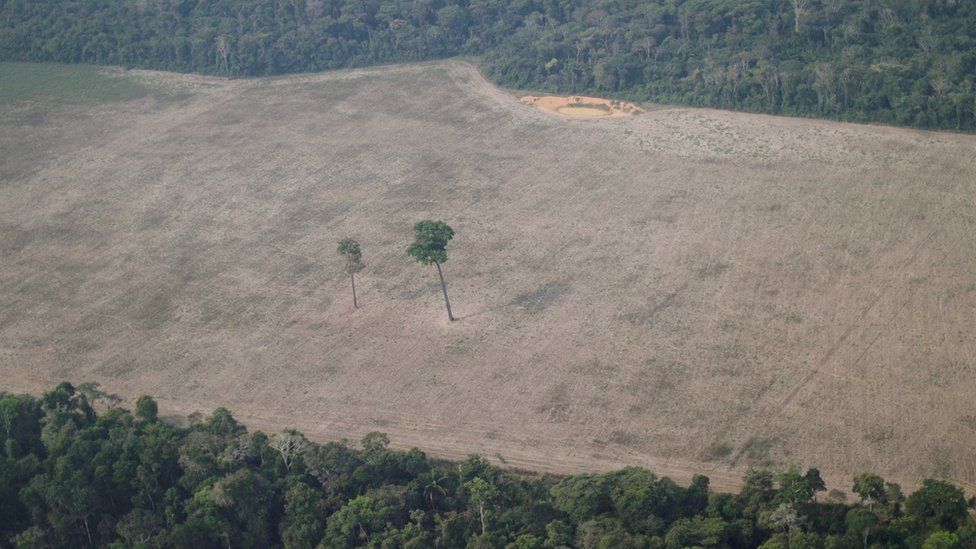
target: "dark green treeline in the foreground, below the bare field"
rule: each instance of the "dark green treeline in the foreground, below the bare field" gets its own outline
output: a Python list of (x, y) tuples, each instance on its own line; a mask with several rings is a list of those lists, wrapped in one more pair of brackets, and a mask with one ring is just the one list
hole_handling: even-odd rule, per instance
[(94, 384), (0, 393), (0, 546), (976, 546), (972, 502), (937, 480), (906, 497), (864, 474), (845, 503), (824, 499), (816, 469), (751, 470), (724, 494), (637, 467), (554, 478), (440, 462), (380, 433), (356, 448), (248, 433), (222, 408), (183, 429), (149, 397), (134, 414), (117, 403)]

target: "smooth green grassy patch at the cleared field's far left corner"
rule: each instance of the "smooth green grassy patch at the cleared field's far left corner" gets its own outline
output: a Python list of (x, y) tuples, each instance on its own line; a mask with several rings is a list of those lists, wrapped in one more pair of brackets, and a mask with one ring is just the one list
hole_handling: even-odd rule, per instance
[(145, 97), (150, 89), (112, 69), (54, 63), (0, 63), (0, 103), (92, 104)]

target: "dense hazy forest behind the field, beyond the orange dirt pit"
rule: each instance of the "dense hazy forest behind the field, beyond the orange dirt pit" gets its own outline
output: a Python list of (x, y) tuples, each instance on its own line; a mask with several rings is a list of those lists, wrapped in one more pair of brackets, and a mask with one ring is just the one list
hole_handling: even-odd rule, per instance
[(976, 130), (970, 0), (0, 0), (0, 59), (231, 76), (450, 56), (515, 88)]

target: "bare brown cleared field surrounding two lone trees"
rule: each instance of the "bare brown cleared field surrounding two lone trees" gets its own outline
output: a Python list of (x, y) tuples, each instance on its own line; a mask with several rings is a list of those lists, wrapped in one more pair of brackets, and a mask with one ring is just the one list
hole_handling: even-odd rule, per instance
[[(976, 484), (974, 136), (572, 120), (454, 61), (0, 70), (0, 389), (553, 472)], [(405, 254), (425, 218), (454, 323)]]

